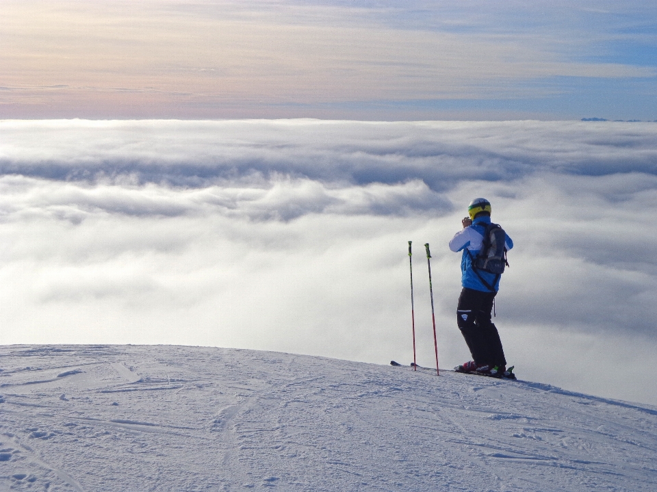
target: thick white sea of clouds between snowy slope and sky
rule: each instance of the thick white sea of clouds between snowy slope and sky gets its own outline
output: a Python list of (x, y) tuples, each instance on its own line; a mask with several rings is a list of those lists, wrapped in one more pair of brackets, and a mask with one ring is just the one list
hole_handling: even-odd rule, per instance
[[(515, 242), (495, 322), (523, 378), (657, 403), (657, 124), (0, 122), (0, 344), (469, 358), (449, 239)], [(575, 376), (574, 376), (575, 374)]]

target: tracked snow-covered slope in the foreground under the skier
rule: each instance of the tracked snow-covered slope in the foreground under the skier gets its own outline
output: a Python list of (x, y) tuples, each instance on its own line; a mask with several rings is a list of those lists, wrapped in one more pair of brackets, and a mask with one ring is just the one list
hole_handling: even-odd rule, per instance
[(0, 491), (657, 490), (656, 408), (523, 380), (188, 346), (0, 369)]

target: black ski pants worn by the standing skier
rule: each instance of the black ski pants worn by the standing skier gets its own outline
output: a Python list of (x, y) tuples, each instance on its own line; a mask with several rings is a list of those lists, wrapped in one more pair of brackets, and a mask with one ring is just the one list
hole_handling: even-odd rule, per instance
[(456, 322), (476, 364), (506, 366), (498, 328), (491, 321), (497, 292), (481, 292), (463, 287), (456, 307)]

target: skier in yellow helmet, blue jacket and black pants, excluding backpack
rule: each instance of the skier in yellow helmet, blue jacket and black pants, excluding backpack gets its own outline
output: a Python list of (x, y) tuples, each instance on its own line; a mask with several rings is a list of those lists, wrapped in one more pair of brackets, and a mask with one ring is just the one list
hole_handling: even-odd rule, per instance
[[(498, 329), (491, 322), (493, 300), (498, 293), (500, 274), (474, 268), (472, 264), (482, 249), (487, 225), (491, 224), (491, 203), (485, 198), (475, 198), (467, 211), (469, 217), (461, 221), (463, 229), (450, 241), (450, 250), (454, 253), (463, 250), (463, 290), (456, 307), (456, 322), (473, 360), (456, 367), (456, 370), (502, 376), (506, 371), (504, 349)], [(513, 241), (508, 235), (504, 245), (507, 250), (513, 248)]]

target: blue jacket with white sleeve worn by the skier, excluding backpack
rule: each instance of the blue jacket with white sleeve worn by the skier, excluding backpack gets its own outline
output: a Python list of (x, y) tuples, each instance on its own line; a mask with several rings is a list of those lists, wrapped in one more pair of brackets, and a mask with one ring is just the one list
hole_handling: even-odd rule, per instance
[[(470, 257), (470, 255), (472, 255), (472, 258), (474, 258), (479, 253), (484, 239), (485, 227), (490, 223), (490, 217), (478, 217), (472, 222), (471, 226), (467, 226), (457, 232), (450, 241), (450, 250), (454, 251), (454, 253), (463, 250), (463, 257), (461, 257), (461, 271), (463, 272), (461, 276), (461, 285), (467, 289), (491, 292), (491, 290), (482, 283), (474, 270), (472, 270), (472, 259)], [(511, 237), (508, 237), (508, 234), (506, 235), (505, 244), (507, 250), (513, 248), (513, 241), (511, 241)], [(495, 292), (498, 291), (500, 288), (500, 275), (484, 272), (482, 270), (477, 270), (477, 273), (482, 276), (482, 279), (487, 281), (493, 289), (495, 289)]]

